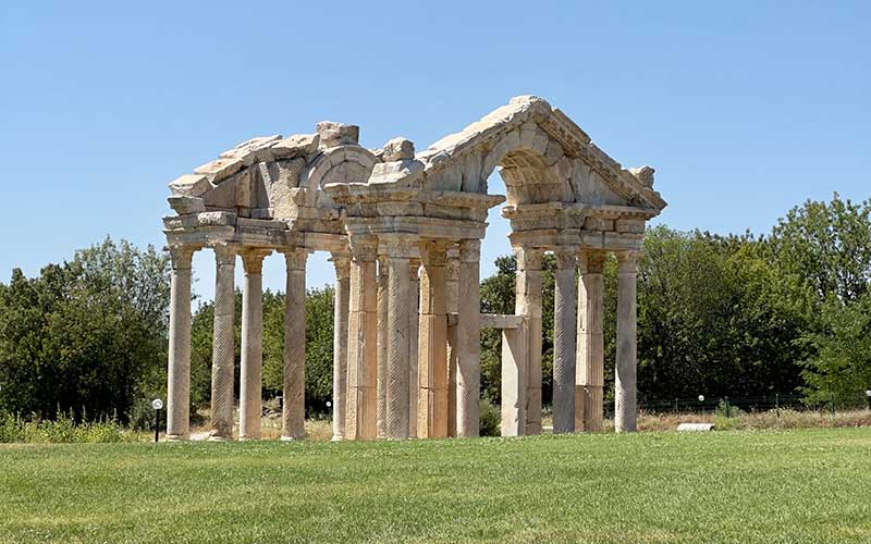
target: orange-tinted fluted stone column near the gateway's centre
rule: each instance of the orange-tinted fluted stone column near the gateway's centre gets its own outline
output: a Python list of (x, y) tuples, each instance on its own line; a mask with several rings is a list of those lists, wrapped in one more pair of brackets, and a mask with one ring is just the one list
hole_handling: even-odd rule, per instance
[(418, 344), (417, 436), (447, 436), (446, 245), (420, 247), (420, 342)]

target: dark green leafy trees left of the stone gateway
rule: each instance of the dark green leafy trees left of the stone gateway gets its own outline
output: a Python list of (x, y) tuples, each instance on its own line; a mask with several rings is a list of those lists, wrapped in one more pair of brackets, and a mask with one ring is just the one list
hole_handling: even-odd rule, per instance
[(0, 289), (0, 407), (125, 420), (165, 382), (169, 260), (126, 242), (77, 251)]

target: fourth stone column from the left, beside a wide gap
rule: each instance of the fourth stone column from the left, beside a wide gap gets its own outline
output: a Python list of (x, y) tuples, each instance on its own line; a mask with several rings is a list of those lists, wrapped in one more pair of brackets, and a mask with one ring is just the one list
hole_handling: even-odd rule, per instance
[(281, 440), (306, 435), (306, 260), (308, 249), (284, 250), (287, 288), (284, 294), (284, 409)]

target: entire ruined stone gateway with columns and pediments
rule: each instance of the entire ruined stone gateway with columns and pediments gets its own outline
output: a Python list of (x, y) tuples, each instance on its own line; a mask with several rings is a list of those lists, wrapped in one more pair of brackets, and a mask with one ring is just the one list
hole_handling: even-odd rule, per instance
[[(415, 154), (357, 126), (240, 144), (170, 184), (168, 434), (188, 436), (191, 259), (216, 256), (211, 436), (233, 437), (234, 267), (245, 270), (240, 438), (260, 436), (261, 264), (287, 264), (282, 436), (304, 436), (305, 270), (335, 264), (336, 440), (478, 435), (480, 329), (503, 330), (502, 433), (541, 432), (541, 261), (556, 256), (554, 432), (602, 424), (605, 252), (619, 263), (615, 425), (636, 428), (636, 259), (666, 206), (653, 170), (623, 169), (562, 111), (517, 97)], [(480, 240), (496, 166), (517, 257), (514, 316), (481, 314)], [(576, 270), (580, 279), (576, 285)]]

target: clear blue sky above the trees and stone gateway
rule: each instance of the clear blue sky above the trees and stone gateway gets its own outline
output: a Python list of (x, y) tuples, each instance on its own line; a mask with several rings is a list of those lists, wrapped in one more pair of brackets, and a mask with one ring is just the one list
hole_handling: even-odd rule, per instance
[[(525, 94), (654, 166), (657, 221), (766, 232), (807, 198), (871, 196), (869, 7), (2, 2), (0, 281), (107, 234), (161, 246), (167, 183), (249, 137), (333, 120), (422, 150)], [(506, 233), (491, 214), (483, 274)], [(208, 298), (213, 258), (194, 265)], [(265, 284), (283, 288), (279, 257)]]

